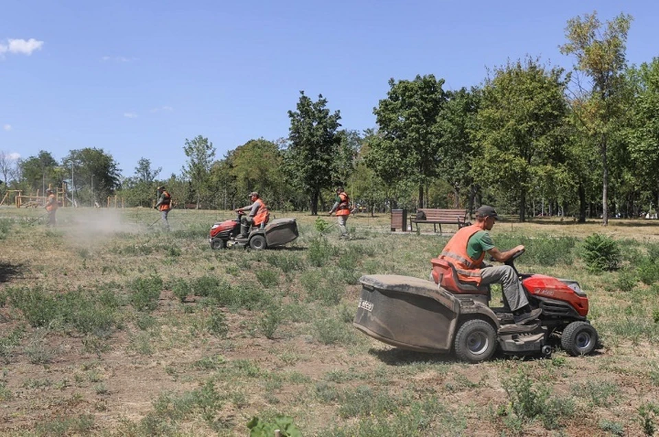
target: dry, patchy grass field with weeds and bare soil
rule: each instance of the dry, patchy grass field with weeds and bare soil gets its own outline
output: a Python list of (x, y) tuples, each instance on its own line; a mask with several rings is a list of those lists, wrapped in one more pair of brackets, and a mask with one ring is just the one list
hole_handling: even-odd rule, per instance
[[(522, 272), (576, 279), (596, 353), (463, 364), (400, 351), (352, 327), (362, 274), (426, 279), (448, 235), (391, 233), (279, 250), (211, 250), (230, 212), (0, 209), (0, 434), (246, 436), (292, 418), (303, 436), (643, 436), (659, 427), (659, 222), (500, 222)], [(334, 217), (321, 217), (334, 222)], [(430, 226), (424, 231), (432, 231)], [(444, 226), (444, 231), (454, 231)], [(621, 268), (591, 273), (583, 241), (612, 237)], [(263, 434), (272, 435), (272, 434)]]

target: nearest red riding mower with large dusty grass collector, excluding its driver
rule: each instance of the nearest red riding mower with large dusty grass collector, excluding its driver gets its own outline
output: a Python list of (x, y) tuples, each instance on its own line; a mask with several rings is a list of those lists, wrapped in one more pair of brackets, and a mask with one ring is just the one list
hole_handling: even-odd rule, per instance
[[(517, 252), (507, 265), (515, 268)], [(432, 281), (398, 275), (360, 278), (362, 292), (354, 326), (400, 349), (449, 352), (465, 362), (482, 362), (503, 353), (551, 355), (560, 343), (570, 355), (586, 355), (597, 346), (588, 322), (588, 296), (577, 281), (542, 274), (516, 274), (529, 304), (542, 308), (532, 324), (515, 324), (505, 297), (503, 307), (489, 307), (489, 287), (458, 279), (452, 263), (431, 260)]]

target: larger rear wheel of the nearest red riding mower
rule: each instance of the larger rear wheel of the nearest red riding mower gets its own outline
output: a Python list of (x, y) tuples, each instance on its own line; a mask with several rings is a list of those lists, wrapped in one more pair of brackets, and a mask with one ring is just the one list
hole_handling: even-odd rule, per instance
[(496, 331), (485, 320), (467, 320), (455, 335), (454, 349), (455, 355), (462, 361), (485, 361), (496, 351)]

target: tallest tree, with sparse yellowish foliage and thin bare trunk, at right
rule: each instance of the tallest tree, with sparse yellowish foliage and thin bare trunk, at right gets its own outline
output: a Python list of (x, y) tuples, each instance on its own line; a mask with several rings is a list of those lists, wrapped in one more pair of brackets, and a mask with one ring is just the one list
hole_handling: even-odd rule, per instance
[(560, 47), (566, 55), (577, 59), (575, 68), (585, 73), (592, 81), (587, 97), (575, 107), (590, 137), (597, 143), (602, 167), (602, 224), (609, 220), (608, 146), (612, 132), (617, 129), (616, 117), (621, 113), (621, 90), (624, 86), (623, 72), (627, 65), (625, 58), (627, 32), (632, 16), (620, 14), (603, 26), (597, 12), (577, 16), (568, 20), (565, 29), (567, 43)]

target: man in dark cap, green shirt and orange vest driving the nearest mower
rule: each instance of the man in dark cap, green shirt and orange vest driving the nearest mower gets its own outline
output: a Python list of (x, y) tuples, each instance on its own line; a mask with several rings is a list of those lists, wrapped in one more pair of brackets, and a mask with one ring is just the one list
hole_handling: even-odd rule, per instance
[(496, 219), (498, 215), (492, 206), (481, 206), (476, 210), (476, 223), (456, 232), (439, 257), (455, 266), (461, 281), (477, 286), (501, 283), (505, 299), (513, 311), (513, 320), (516, 324), (527, 324), (537, 319), (542, 309), (531, 309), (515, 270), (510, 265), (483, 265), (485, 252), (494, 261), (503, 263), (524, 250), (524, 246), (520, 245), (501, 252), (494, 246), (488, 231), (492, 230)]

